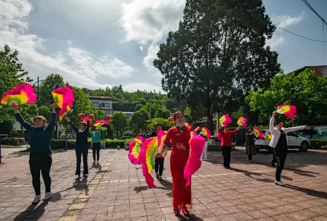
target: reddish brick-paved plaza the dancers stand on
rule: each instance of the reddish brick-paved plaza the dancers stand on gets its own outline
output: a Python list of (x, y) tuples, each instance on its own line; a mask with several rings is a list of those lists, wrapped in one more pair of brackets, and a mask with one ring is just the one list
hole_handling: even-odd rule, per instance
[[(16, 150), (15, 150), (16, 151)], [(244, 148), (232, 152), (224, 169), (220, 152), (208, 152), (192, 177), (193, 210), (176, 217), (172, 208), (169, 158), (164, 180), (149, 189), (141, 165), (132, 165), (125, 150), (101, 150), (89, 176), (75, 179), (75, 151), (54, 151), (52, 199), (34, 199), (28, 153), (5, 153), (0, 164), (0, 220), (327, 220), (327, 151), (290, 151), (282, 181), (274, 184), (271, 154), (260, 152), (247, 162)], [(41, 181), (41, 197), (44, 185)]]

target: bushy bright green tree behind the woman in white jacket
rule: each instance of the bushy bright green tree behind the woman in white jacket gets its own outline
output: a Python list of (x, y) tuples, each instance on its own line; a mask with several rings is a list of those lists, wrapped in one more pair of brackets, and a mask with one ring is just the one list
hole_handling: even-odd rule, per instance
[(268, 125), (277, 105), (295, 105), (295, 120), (283, 117), (287, 125), (327, 124), (327, 77), (316, 77), (309, 68), (295, 75), (283, 71), (271, 79), (267, 90), (252, 90), (246, 97), (251, 111), (259, 115), (259, 124)]

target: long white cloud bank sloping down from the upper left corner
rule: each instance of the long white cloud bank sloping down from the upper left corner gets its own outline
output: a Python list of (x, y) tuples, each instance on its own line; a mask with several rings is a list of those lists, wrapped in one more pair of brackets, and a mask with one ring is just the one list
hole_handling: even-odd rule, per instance
[(45, 39), (25, 34), (28, 30), (26, 17), (31, 10), (32, 5), (25, 0), (0, 1), (0, 45), (8, 44), (12, 50), (18, 50), (19, 61), (30, 71), (31, 77), (53, 72), (73, 85), (106, 87), (112, 85), (99, 82), (99, 77), (110, 82), (110, 79), (130, 78), (135, 71), (118, 58), (97, 57), (83, 48), (73, 47), (71, 40), (67, 41), (68, 48), (64, 52), (54, 55), (40, 53), (39, 49), (45, 49)]

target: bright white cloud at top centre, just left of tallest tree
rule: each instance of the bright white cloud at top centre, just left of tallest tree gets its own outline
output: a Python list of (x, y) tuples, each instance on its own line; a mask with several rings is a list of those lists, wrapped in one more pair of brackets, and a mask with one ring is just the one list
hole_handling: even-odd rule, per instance
[(129, 4), (122, 4), (120, 22), (125, 29), (125, 41), (150, 45), (143, 63), (148, 70), (153, 71), (154, 77), (160, 75), (153, 67), (159, 42), (165, 40), (168, 32), (178, 29), (184, 6), (185, 0), (132, 0)]

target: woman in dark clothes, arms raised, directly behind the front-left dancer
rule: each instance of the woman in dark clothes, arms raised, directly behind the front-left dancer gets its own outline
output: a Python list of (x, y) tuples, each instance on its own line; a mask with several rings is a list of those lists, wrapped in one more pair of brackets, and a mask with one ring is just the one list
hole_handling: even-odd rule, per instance
[(88, 130), (90, 128), (90, 120), (89, 120), (89, 113), (87, 114), (87, 123), (80, 122), (79, 128), (77, 128), (71, 120), (69, 120), (68, 116), (65, 114), (65, 119), (67, 120), (68, 124), (72, 126), (73, 130), (76, 132), (76, 173), (77, 178), (81, 178), (81, 156), (83, 155), (83, 176), (88, 175), (88, 166), (87, 166), (87, 136)]

